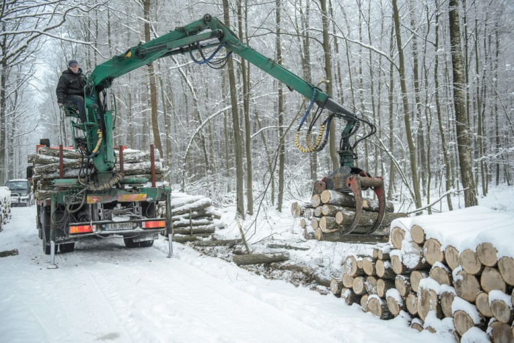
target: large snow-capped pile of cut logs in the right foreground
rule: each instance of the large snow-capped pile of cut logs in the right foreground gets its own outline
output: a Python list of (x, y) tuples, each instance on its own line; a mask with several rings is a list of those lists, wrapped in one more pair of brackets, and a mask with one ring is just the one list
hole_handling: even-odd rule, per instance
[(395, 220), (387, 246), (345, 259), (341, 297), (419, 331), (514, 342), (512, 220), (478, 206)]

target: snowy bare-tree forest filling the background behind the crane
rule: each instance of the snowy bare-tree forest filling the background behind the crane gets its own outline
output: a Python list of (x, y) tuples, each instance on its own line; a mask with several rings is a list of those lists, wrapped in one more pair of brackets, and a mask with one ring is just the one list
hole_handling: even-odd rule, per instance
[[(404, 210), (430, 203), (463, 188), (450, 49), (454, 7), (463, 54), (461, 124), (471, 139), (474, 191), (487, 196), (489, 187), (514, 182), (509, 0), (5, 0), (0, 183), (25, 177), (27, 154), (40, 138), (72, 145), (55, 94), (67, 60), (90, 72), (210, 13), (230, 19), (243, 43), (373, 121), (378, 132), (359, 145), (359, 167), (383, 176), (387, 198), (402, 201)], [(173, 189), (209, 195), (219, 205), (237, 199), (242, 213), (260, 203), (281, 210), (284, 199), (308, 197), (313, 181), (339, 165), (344, 123), (336, 123), (330, 149), (302, 154), (293, 137), (308, 99), (238, 56), (232, 60), (215, 70), (175, 56), (118, 78), (111, 88), (119, 113), (114, 143), (142, 150), (155, 143)], [(359, 135), (365, 132), (363, 125)]]

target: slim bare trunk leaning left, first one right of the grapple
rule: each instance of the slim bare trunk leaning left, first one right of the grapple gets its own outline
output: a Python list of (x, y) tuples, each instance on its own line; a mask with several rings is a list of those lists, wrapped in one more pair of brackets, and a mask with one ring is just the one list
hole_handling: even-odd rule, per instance
[(408, 108), (408, 95), (404, 62), (404, 51), (402, 47), (402, 35), (400, 32), (400, 13), (396, 0), (393, 0), (393, 19), (395, 21), (396, 45), (398, 48), (398, 58), (400, 59), (400, 88), (402, 88), (402, 103), (404, 107), (405, 132), (408, 143), (408, 152), (411, 162), (411, 174), (413, 178), (413, 191), (415, 204), (421, 207), (421, 195), (419, 193), (419, 182), (417, 177), (416, 148), (414, 145), (413, 134), (411, 132), (411, 111)]

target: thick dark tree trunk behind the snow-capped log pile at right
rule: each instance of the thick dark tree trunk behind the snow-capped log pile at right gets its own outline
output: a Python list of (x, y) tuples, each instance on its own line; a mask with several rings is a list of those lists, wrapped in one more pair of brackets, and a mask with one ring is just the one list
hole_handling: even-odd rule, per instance
[(475, 181), (473, 179), (473, 161), (471, 153), (471, 132), (467, 125), (465, 108), (465, 75), (461, 49), (461, 23), (458, 17), (458, 0), (450, 0), (450, 42), (452, 45), (452, 66), (454, 86), (454, 108), (458, 143), (458, 161), (461, 165), (461, 178), (464, 189), (464, 204), (466, 207), (478, 204), (475, 196)]

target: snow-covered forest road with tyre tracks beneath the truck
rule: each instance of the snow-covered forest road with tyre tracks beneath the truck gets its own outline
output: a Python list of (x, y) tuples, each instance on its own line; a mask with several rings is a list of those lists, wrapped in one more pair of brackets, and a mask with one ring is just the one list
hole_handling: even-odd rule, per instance
[(47, 269), (36, 210), (13, 209), (0, 233), (1, 342), (451, 342), (382, 321), (334, 296), (269, 281), (175, 244), (77, 244)]

